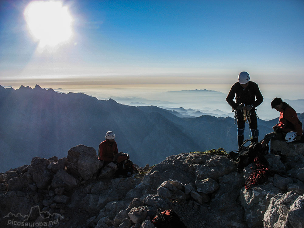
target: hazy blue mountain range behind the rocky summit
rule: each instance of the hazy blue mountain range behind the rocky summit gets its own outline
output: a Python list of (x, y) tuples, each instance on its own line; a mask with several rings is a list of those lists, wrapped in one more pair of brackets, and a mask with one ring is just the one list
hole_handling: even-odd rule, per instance
[[(179, 112), (122, 105), (82, 93), (60, 94), (38, 85), (16, 90), (0, 86), (0, 172), (30, 164), (35, 156), (66, 157), (67, 151), (78, 144), (98, 151), (109, 130), (116, 134), (118, 150), (128, 152), (140, 166), (159, 163), (181, 152), (237, 149), (233, 118), (203, 114), (182, 118), (177, 116)], [(277, 120), (259, 120), (260, 138), (272, 131), (273, 122)]]

